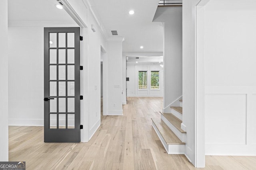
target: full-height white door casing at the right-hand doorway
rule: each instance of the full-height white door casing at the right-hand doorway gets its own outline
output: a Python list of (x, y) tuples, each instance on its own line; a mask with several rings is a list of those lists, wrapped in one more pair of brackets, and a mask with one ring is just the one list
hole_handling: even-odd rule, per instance
[(205, 80), (204, 80), (204, 8), (210, 0), (196, 4), (195, 17), (195, 166), (205, 167)]

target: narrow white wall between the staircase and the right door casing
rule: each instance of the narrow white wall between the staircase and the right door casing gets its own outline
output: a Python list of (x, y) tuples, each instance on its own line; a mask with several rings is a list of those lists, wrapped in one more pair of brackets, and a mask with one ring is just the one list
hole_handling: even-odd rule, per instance
[[(200, 0), (182, 1), (182, 124), (186, 127), (185, 155), (196, 167), (204, 167), (204, 152), (196, 154), (196, 4)], [(203, 121), (203, 120), (202, 120)], [(203, 129), (202, 129), (203, 131)], [(202, 135), (202, 134), (200, 134)], [(198, 145), (204, 148), (204, 145)], [(201, 152), (200, 152), (201, 153)]]

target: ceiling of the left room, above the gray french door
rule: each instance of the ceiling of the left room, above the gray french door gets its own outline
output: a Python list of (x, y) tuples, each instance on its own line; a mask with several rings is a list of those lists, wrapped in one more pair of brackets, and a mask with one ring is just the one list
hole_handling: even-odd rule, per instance
[(8, 0), (8, 21), (74, 21), (55, 4), (56, 0)]

